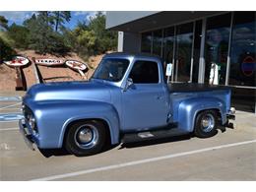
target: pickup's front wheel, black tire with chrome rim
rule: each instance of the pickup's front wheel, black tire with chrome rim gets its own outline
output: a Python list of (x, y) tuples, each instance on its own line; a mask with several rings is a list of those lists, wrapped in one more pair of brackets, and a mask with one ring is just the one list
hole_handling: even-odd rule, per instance
[(104, 125), (95, 120), (72, 124), (65, 137), (65, 148), (71, 154), (82, 157), (99, 153), (105, 143)]

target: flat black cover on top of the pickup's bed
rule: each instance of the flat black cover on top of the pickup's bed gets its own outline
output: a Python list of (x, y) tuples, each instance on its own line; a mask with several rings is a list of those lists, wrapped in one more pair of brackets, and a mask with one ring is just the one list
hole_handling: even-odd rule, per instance
[(188, 93), (188, 92), (207, 92), (215, 90), (228, 90), (224, 86), (205, 85), (205, 84), (191, 84), (191, 83), (172, 83), (168, 84), (168, 91), (172, 93)]

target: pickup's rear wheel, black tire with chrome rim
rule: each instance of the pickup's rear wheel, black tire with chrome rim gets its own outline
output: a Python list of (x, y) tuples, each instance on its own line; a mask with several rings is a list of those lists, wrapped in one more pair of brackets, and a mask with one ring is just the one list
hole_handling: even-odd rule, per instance
[(196, 117), (194, 133), (199, 138), (209, 138), (217, 134), (218, 116), (215, 110), (204, 110)]

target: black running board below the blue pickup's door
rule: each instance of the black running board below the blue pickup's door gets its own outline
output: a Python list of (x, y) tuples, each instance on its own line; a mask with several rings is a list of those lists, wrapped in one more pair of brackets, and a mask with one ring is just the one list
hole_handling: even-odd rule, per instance
[(178, 136), (182, 134), (184, 134), (184, 132), (181, 132), (177, 128), (160, 129), (160, 130), (154, 130), (154, 131), (126, 133), (123, 135), (121, 141), (122, 143), (133, 143), (133, 142), (140, 142), (140, 141), (162, 139), (162, 138)]

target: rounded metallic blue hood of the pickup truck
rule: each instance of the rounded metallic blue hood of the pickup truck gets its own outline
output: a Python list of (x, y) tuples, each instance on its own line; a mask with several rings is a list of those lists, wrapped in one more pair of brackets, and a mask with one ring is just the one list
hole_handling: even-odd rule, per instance
[(58, 82), (32, 86), (27, 96), (39, 100), (97, 100), (110, 101), (107, 85), (97, 82)]

